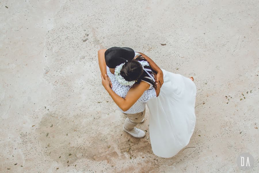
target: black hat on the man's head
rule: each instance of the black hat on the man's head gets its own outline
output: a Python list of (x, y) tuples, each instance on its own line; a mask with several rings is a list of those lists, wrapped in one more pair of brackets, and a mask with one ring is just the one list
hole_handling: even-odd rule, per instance
[(117, 65), (132, 60), (135, 52), (131, 48), (112, 47), (105, 51), (104, 58), (109, 68), (115, 68)]

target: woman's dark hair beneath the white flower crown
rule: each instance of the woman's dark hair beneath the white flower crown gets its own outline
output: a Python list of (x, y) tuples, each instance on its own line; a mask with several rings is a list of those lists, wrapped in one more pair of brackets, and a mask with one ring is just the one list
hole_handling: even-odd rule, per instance
[[(127, 61), (120, 71), (120, 75), (127, 81), (136, 80), (136, 83), (140, 83), (141, 80), (149, 82), (156, 89), (157, 85), (150, 79), (149, 75), (143, 70), (142, 65), (138, 61), (146, 61), (144, 57), (139, 55), (136, 59)], [(144, 66), (146, 69), (151, 69), (152, 71), (147, 71), (149, 74), (154, 76), (155, 71), (150, 66)], [(147, 78), (148, 77), (148, 78)]]

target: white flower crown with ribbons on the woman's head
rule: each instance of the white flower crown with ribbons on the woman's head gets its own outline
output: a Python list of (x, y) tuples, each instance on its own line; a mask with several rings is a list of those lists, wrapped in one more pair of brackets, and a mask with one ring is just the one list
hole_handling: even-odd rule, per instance
[[(144, 66), (149, 66), (149, 63), (147, 61), (138, 61), (141, 65), (142, 65), (142, 68), (143, 70), (148, 74), (148, 76), (150, 76), (150, 78), (155, 81), (154, 77), (149, 74), (147, 71), (151, 71), (151, 69), (146, 69), (144, 68)], [(121, 69), (122, 69), (122, 66), (124, 65), (125, 63), (122, 63), (120, 65), (117, 65), (115, 67), (115, 79), (122, 85), (124, 86), (132, 86), (135, 84), (135, 82), (137, 82), (137, 80), (132, 80), (132, 81), (127, 81), (125, 80), (121, 75), (120, 75), (120, 72), (121, 72)]]

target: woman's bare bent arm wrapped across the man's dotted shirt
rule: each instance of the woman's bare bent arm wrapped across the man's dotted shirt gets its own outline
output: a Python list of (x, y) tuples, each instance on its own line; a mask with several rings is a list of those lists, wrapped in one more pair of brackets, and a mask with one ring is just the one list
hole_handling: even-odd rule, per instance
[(134, 84), (132, 86), (125, 99), (117, 95), (109, 86), (109, 81), (108, 81), (108, 76), (105, 75), (105, 78), (101, 75), (102, 77), (102, 85), (106, 89), (106, 91), (109, 93), (109, 95), (112, 97), (113, 101), (121, 108), (123, 111), (129, 110), (136, 101), (142, 96), (142, 94), (149, 89), (150, 84), (147, 82), (141, 81), (140, 84)]

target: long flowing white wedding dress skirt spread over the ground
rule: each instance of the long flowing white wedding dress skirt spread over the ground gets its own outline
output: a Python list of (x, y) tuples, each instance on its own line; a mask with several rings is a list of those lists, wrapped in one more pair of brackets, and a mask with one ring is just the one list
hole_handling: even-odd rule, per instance
[(169, 158), (184, 148), (193, 134), (196, 86), (190, 78), (162, 71), (160, 94), (147, 102), (149, 133), (153, 153)]

